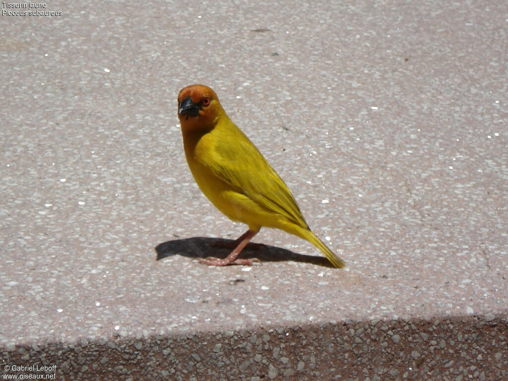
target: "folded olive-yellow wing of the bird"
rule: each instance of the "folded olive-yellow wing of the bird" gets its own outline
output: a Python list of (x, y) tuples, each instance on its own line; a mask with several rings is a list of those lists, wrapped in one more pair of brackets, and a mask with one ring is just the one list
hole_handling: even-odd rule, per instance
[(288, 186), (247, 136), (231, 120), (212, 133), (217, 133), (216, 144), (206, 165), (215, 176), (260, 206), (307, 229)]

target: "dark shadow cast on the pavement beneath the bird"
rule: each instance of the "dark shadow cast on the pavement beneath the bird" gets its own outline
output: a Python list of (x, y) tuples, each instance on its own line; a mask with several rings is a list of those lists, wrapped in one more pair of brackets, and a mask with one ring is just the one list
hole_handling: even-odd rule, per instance
[[(234, 240), (223, 238), (183, 238), (160, 243), (155, 246), (155, 252), (157, 253), (157, 261), (175, 255), (192, 259), (206, 257), (226, 258), (231, 252), (231, 248), (218, 246), (234, 247), (234, 243)], [(264, 244), (249, 243), (244, 247), (238, 258), (257, 258), (261, 262), (305, 262), (333, 268), (333, 265), (324, 257), (307, 256)]]

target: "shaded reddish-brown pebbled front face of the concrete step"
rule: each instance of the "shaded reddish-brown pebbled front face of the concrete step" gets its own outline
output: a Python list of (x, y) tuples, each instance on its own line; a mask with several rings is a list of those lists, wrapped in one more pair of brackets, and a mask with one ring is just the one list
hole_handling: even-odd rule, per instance
[[(506, 320), (371, 321), (123, 339), (9, 354), (67, 379), (506, 379)], [(39, 360), (40, 361), (40, 360)], [(51, 373), (51, 372), (49, 372)], [(370, 377), (369, 377), (370, 376)]]

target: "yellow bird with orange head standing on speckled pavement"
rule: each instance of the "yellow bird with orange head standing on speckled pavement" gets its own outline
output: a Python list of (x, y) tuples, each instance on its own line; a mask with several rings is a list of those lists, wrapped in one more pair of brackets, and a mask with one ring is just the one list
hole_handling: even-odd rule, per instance
[(313, 243), (335, 267), (345, 267), (310, 230), (288, 186), (261, 152), (226, 115), (215, 92), (190, 85), (178, 94), (178, 118), (187, 164), (198, 186), (215, 207), (249, 229), (225, 259), (206, 265), (252, 265), (238, 254), (261, 227), (276, 228)]

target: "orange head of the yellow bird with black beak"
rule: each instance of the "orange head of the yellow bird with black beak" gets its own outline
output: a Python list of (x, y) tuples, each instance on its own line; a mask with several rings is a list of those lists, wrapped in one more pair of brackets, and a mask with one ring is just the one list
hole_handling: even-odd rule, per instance
[(190, 85), (178, 93), (178, 119), (182, 131), (210, 131), (224, 109), (217, 94), (205, 85)]

